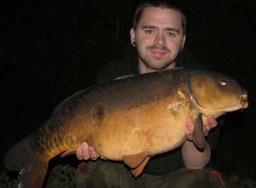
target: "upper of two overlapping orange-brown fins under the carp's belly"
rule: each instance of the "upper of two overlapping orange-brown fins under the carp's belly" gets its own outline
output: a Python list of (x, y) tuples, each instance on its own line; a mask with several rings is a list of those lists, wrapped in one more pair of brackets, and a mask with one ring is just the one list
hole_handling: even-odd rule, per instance
[(133, 155), (124, 155), (123, 162), (130, 168), (136, 168), (143, 162), (143, 160), (148, 156), (148, 154), (148, 151), (142, 151), (141, 153)]

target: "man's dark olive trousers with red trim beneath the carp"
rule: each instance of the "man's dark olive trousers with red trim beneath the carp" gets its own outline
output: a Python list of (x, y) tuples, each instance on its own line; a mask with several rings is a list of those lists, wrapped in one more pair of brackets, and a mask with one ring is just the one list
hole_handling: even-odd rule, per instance
[(219, 172), (205, 168), (201, 170), (181, 168), (165, 175), (150, 175), (142, 172), (134, 178), (123, 163), (97, 160), (84, 164), (75, 177), (77, 188), (97, 187), (161, 187), (161, 188), (228, 188), (227, 181)]

